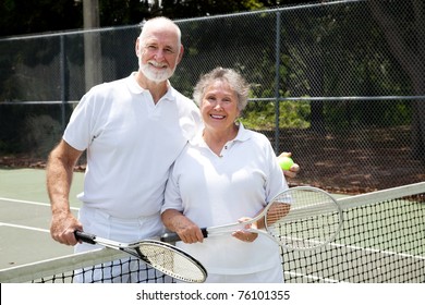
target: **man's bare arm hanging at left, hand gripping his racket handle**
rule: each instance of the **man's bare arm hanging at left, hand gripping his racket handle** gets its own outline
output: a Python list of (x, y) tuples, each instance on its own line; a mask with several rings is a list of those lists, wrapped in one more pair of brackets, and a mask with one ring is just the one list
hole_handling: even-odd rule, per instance
[(74, 166), (82, 152), (62, 139), (50, 152), (46, 170), (52, 213), (50, 234), (54, 241), (66, 245), (75, 245), (74, 231), (83, 229), (72, 215), (69, 202)]

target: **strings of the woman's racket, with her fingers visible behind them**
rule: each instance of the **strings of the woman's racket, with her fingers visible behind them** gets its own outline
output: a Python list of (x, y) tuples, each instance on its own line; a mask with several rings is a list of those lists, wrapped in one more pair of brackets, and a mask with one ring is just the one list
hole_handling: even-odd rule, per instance
[[(284, 212), (281, 203), (272, 203), (266, 213), (267, 231), (279, 244), (293, 249), (319, 247), (333, 240), (341, 224), (337, 203), (327, 194), (312, 191), (294, 191), (290, 194), (290, 210)], [(283, 207), (282, 207), (283, 206)]]

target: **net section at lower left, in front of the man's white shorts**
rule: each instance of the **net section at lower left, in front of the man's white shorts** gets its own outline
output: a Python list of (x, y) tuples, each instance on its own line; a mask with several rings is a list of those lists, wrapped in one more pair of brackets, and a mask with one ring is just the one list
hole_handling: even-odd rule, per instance
[(112, 248), (95, 249), (0, 270), (1, 283), (171, 283), (174, 280)]

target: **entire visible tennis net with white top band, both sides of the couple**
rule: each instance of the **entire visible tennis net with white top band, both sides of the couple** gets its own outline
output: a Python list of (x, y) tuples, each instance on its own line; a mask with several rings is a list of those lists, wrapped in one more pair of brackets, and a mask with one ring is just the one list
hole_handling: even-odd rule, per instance
[[(314, 251), (282, 249), (286, 282), (425, 282), (425, 182), (338, 202), (344, 222), (333, 243)], [(133, 282), (174, 282), (114, 249), (0, 270), (0, 282), (14, 283), (125, 282), (129, 277)]]

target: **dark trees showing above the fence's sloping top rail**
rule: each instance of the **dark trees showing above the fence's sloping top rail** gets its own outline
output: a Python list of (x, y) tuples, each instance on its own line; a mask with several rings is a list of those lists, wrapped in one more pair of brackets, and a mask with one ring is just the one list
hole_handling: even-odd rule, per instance
[[(83, 1), (2, 0), (0, 37), (83, 28)], [(144, 19), (157, 15), (189, 19), (304, 2), (300, 0), (99, 0), (99, 17), (100, 26), (106, 27), (138, 24)]]

